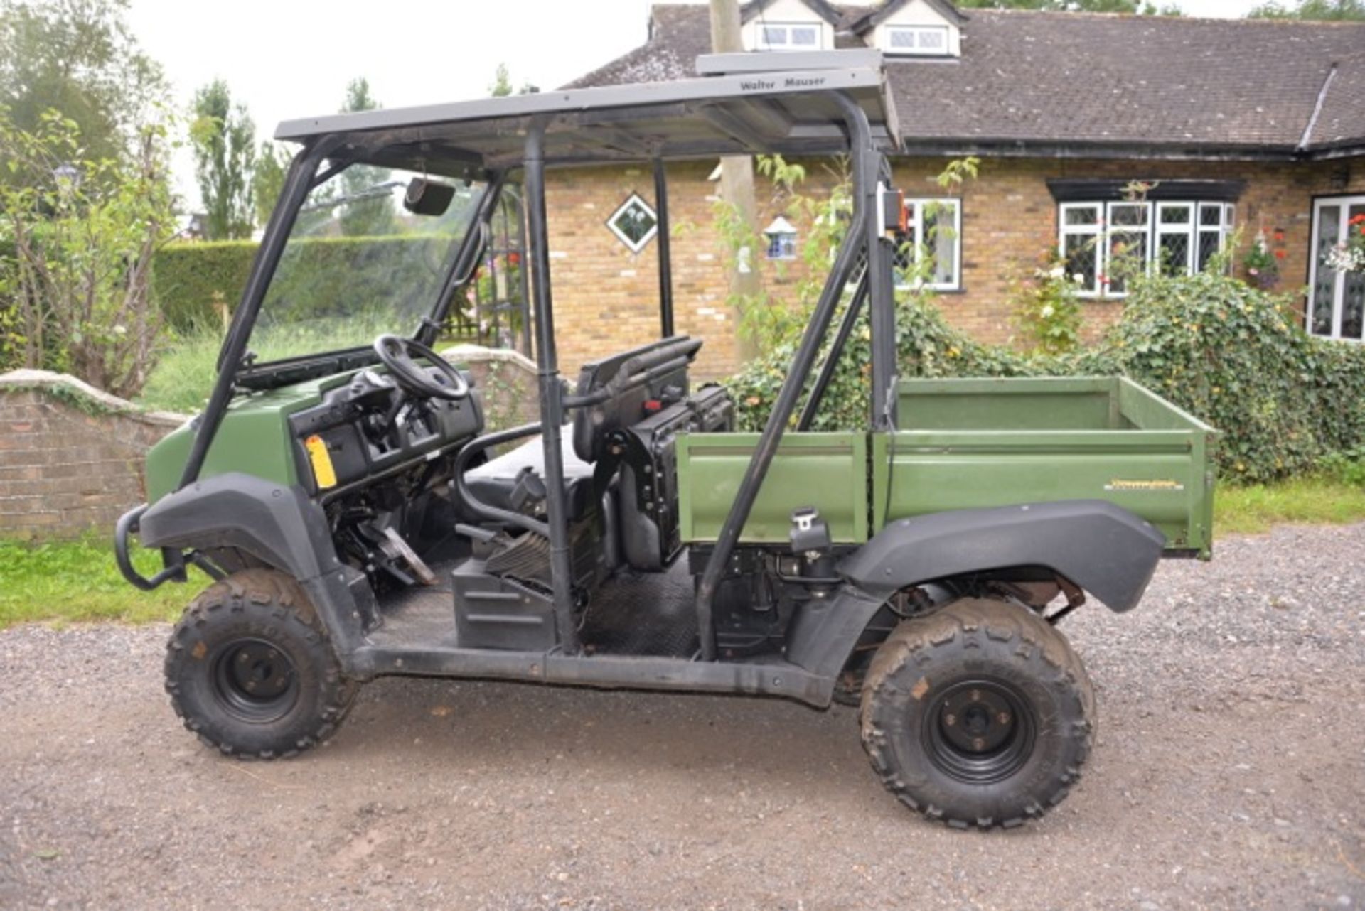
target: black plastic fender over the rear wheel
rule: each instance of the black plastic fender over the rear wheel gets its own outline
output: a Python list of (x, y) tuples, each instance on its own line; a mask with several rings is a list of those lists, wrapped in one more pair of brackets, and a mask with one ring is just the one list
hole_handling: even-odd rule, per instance
[(807, 601), (788, 638), (788, 660), (834, 678), (872, 616), (895, 592), (950, 576), (1044, 566), (1114, 611), (1137, 606), (1166, 537), (1107, 501), (1057, 501), (898, 520), (839, 561), (845, 580)]

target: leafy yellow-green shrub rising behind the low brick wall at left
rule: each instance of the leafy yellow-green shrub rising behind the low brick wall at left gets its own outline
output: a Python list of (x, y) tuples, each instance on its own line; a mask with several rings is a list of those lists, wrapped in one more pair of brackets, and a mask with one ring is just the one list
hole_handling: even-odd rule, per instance
[(152, 256), (175, 233), (169, 127), (142, 125), (128, 154), (93, 160), (75, 120), (48, 110), (30, 131), (0, 106), (0, 161), (18, 177), (0, 184), (7, 360), (115, 395), (142, 389), (161, 329)]

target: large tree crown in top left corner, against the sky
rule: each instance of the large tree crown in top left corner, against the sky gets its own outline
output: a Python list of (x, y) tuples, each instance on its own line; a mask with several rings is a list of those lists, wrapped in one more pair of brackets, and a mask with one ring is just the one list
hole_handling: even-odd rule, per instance
[(91, 160), (136, 155), (138, 124), (167, 86), (128, 31), (127, 8), (127, 0), (0, 0), (0, 105), (11, 128), (37, 131), (56, 109), (76, 124)]

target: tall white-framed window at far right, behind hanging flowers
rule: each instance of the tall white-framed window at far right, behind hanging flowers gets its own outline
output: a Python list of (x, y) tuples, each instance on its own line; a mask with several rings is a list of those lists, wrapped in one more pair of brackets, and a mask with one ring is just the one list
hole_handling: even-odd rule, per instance
[(1365, 215), (1365, 195), (1313, 200), (1313, 256), (1308, 265), (1308, 331), (1313, 335), (1365, 341), (1365, 271), (1339, 271), (1324, 262), (1358, 215)]

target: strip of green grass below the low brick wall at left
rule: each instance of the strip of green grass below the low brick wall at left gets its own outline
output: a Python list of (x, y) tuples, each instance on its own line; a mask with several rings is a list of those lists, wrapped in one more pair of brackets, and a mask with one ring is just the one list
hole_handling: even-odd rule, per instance
[[(161, 559), (139, 548), (132, 562), (150, 576)], [(173, 621), (207, 581), (190, 567), (187, 584), (142, 592), (119, 574), (108, 539), (91, 535), (46, 544), (0, 539), (0, 629), (44, 621)]]

